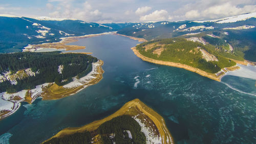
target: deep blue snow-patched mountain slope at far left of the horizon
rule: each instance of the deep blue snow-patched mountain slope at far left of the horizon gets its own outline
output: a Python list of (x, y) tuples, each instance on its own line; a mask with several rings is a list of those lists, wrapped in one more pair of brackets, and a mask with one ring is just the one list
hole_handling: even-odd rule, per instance
[(21, 51), (28, 44), (52, 43), (61, 37), (113, 31), (111, 27), (82, 20), (0, 15), (0, 52)]

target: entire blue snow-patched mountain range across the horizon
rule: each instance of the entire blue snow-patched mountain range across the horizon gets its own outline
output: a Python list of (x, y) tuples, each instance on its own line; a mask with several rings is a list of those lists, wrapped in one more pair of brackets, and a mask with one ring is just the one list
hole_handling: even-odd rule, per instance
[[(214, 37), (230, 45), (233, 52), (256, 61), (256, 12), (214, 20), (179, 22), (97, 24), (82, 20), (50, 17), (0, 15), (0, 52), (22, 51), (28, 44), (59, 42), (61, 37), (117, 31), (119, 34), (147, 40), (171, 37)], [(212, 39), (211, 39), (212, 41)]]

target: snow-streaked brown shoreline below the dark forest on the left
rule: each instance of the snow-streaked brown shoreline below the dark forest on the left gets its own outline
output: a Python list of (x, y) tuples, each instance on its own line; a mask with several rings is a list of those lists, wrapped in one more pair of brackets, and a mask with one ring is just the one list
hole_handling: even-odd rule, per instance
[[(42, 97), (42, 100), (60, 99), (71, 96), (84, 88), (97, 84), (103, 78), (102, 75), (104, 71), (101, 67), (102, 65), (103, 61), (98, 59), (96, 63), (93, 63), (93, 69), (90, 73), (84, 77), (81, 77), (80, 79), (75, 79), (76, 81), (72, 81), (71, 83), (75, 83), (76, 85), (69, 85), (69, 83), (67, 84), (68, 86), (66, 88), (66, 85), (57, 86), (54, 83), (46, 83), (38, 85), (32, 90), (22, 90), (11, 94), (8, 94), (7, 92), (0, 93), (0, 98), (2, 100), (13, 103), (11, 109), (2, 108), (0, 110), (0, 120), (15, 113), (21, 105), (20, 102), (26, 101), (28, 104), (32, 104), (32, 102), (38, 97)], [(58, 89), (50, 89), (52, 86), (57, 86)]]

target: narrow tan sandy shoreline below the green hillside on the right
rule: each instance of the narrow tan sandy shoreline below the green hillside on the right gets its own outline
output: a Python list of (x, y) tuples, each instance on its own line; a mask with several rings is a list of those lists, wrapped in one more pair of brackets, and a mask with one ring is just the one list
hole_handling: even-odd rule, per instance
[(144, 61), (154, 63), (154, 64), (158, 64), (158, 65), (165, 65), (165, 66), (182, 68), (182, 69), (185, 69), (185, 70), (188, 70), (188, 71), (191, 71), (191, 72), (195, 72), (199, 75), (208, 77), (208, 78), (216, 80), (216, 81), (221, 81), (221, 78), (227, 72), (240, 69), (240, 67), (236, 65), (236, 66), (232, 66), (232, 67), (228, 67), (228, 68), (223, 68), (218, 73), (212, 74), (212, 73), (208, 73), (208, 72), (205, 72), (205, 71), (200, 70), (198, 68), (194, 68), (194, 67), (191, 67), (191, 66), (188, 66), (188, 65), (185, 65), (185, 64), (174, 63), (174, 62), (170, 62), (170, 61), (156, 60), (156, 59), (153, 59), (153, 58), (146, 57), (146, 56), (140, 54), (140, 52), (136, 49), (136, 47), (133, 47), (131, 49), (133, 50), (133, 52), (136, 56), (138, 56), (139, 58), (141, 58)]

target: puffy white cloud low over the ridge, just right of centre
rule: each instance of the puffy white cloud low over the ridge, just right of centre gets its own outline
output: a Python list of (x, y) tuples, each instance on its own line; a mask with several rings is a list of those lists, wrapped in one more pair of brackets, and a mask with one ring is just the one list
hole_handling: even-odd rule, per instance
[(151, 14), (140, 17), (141, 21), (159, 21), (168, 19), (168, 12), (166, 10), (156, 10)]

